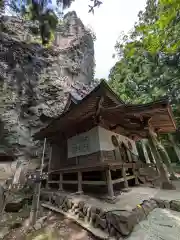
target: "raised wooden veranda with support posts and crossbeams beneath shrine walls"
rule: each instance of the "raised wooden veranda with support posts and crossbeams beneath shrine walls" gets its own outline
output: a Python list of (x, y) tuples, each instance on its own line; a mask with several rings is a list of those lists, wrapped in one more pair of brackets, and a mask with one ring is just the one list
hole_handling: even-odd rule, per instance
[[(149, 164), (152, 166), (152, 164)], [(61, 168), (58, 170), (49, 171), (49, 178), (47, 181), (47, 188), (56, 188), (63, 191), (65, 188), (75, 189), (77, 192), (82, 192), (84, 189), (100, 187), (99, 192), (106, 189), (108, 195), (113, 198), (116, 187), (128, 188), (129, 186), (139, 185), (139, 169), (147, 167), (148, 164), (142, 162), (136, 163), (117, 163), (116, 162), (102, 162), (96, 165), (89, 166), (73, 166), (69, 168)], [(89, 172), (89, 173), (88, 173)], [(95, 177), (98, 172), (99, 178)], [(88, 178), (85, 174), (90, 174)], [(66, 175), (69, 175), (68, 178)], [(73, 178), (75, 174), (75, 178)], [(92, 178), (93, 176), (93, 178)], [(97, 176), (97, 175), (96, 175)], [(119, 185), (118, 185), (119, 184)], [(92, 187), (91, 187), (92, 186)]]

